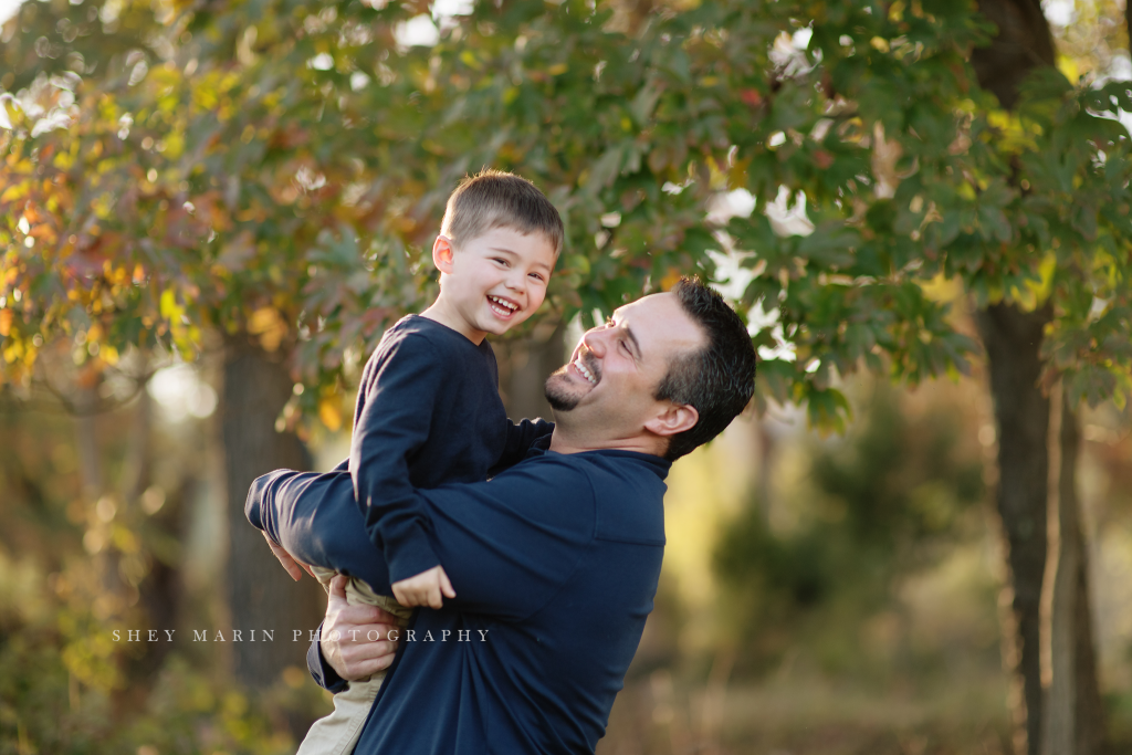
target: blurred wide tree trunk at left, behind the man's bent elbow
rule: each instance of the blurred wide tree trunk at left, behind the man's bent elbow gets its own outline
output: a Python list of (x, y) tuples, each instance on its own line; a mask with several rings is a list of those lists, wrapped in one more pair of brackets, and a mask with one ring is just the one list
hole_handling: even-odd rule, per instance
[[(306, 635), (317, 627), (325, 607), (317, 583), (292, 582), (243, 515), (255, 478), (311, 465), (294, 434), (275, 430), (292, 389), (282, 361), (281, 354), (269, 354), (240, 334), (225, 343), (221, 426), (229, 509), (228, 597), (232, 629), (242, 633), (242, 642), (233, 642), (231, 635), (226, 641), (235, 678), (256, 687), (276, 681), (288, 666), (306, 666), (307, 643), (292, 642), (292, 630)], [(265, 642), (264, 630), (274, 630), (274, 641)]]

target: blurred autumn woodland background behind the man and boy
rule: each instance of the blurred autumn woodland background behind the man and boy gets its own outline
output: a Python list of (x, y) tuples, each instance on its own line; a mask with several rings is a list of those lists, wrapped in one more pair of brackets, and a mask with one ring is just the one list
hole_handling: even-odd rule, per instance
[(240, 504), (346, 455), (481, 165), (567, 226), (512, 417), (684, 274), (761, 357), (669, 478), (599, 753), (1129, 752), (1126, 14), (0, 5), (0, 753), (285, 753), (329, 710), (321, 593)]

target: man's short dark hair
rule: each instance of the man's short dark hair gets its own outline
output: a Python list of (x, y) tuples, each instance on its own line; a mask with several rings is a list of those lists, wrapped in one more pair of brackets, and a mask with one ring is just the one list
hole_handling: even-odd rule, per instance
[(696, 277), (680, 278), (672, 293), (707, 343), (696, 352), (672, 359), (657, 386), (658, 401), (694, 406), (700, 413), (692, 429), (670, 438), (664, 454), (668, 461), (722, 432), (755, 392), (755, 348), (747, 327), (723, 297)]

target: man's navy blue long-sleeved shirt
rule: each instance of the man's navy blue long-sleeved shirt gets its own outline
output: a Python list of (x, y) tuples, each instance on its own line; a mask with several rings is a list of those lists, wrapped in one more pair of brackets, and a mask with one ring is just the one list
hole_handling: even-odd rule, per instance
[[(415, 490), (457, 597), (417, 612), (354, 752), (592, 753), (652, 610), (668, 469), (534, 448), (490, 481)], [(388, 586), (346, 473), (261, 477), (247, 514), (299, 560)], [(308, 660), (344, 685), (318, 643)]]

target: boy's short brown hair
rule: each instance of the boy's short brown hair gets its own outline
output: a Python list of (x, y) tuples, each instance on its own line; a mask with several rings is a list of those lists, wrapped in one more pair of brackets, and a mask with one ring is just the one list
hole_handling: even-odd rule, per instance
[(452, 239), (456, 248), (497, 228), (512, 229), (526, 235), (541, 233), (555, 248), (563, 248), (563, 218), (546, 195), (525, 178), (483, 169), (464, 177), (448, 197), (440, 223), (440, 234)]

